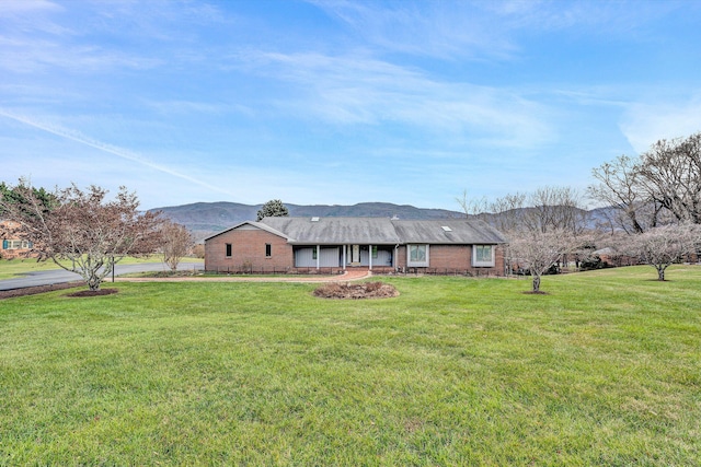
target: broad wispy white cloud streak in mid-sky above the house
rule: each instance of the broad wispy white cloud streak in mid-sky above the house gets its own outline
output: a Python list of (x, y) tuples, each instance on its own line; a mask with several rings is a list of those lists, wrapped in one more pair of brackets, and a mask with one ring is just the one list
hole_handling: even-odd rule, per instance
[(242, 58), (254, 72), (298, 85), (294, 97), (276, 101), (289, 114), (340, 125), (394, 122), (451, 137), (479, 131), (480, 139), (499, 145), (531, 145), (551, 136), (548, 108), (515, 91), (441, 82), (365, 56), (255, 52)]

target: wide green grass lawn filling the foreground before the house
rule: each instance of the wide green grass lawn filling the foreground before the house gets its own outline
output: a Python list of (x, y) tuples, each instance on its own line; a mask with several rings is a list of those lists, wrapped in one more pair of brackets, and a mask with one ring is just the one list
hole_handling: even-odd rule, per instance
[(701, 464), (701, 268), (0, 302), (0, 465)]

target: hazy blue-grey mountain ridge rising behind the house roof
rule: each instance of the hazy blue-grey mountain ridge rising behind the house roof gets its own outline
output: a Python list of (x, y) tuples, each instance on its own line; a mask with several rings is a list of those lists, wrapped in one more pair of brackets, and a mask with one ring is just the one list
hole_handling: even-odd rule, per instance
[[(239, 202), (195, 202), (193, 205), (170, 206), (156, 208), (163, 215), (185, 225), (197, 241), (243, 221), (255, 221), (258, 209), (263, 205), (241, 205)], [(424, 209), (409, 205), (392, 205), (390, 202), (360, 202), (353, 206), (340, 205), (285, 205), (291, 217), (320, 218), (392, 218), (399, 219), (448, 219), (461, 218), (464, 213), (447, 209)]]

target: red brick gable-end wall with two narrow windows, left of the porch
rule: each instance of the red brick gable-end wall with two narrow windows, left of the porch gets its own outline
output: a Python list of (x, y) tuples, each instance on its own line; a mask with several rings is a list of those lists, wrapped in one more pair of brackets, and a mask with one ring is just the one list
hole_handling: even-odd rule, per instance
[[(231, 257), (226, 256), (231, 244)], [(271, 257), (265, 256), (265, 244), (271, 245)], [(239, 272), (284, 272), (294, 266), (292, 247), (287, 240), (269, 232), (253, 229), (235, 229), (205, 242), (205, 270)]]

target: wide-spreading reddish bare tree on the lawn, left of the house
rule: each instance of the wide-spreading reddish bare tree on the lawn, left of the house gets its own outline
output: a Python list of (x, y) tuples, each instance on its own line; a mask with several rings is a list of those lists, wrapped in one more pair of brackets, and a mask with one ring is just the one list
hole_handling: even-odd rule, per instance
[(4, 215), (20, 224), (41, 259), (79, 273), (90, 290), (99, 290), (125, 256), (152, 253), (158, 246), (160, 219), (140, 214), (136, 195), (125, 187), (115, 200), (105, 201), (105, 189), (93, 185), (83, 191), (72, 185), (53, 194), (50, 206), (23, 184), (13, 190), (22, 201), (0, 199)]

